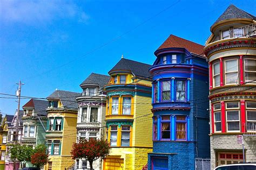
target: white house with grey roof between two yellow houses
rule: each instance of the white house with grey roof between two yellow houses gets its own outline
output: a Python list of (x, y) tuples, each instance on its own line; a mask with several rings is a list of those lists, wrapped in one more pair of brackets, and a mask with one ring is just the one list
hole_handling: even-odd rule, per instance
[[(78, 103), (77, 139), (102, 139), (104, 136), (106, 114), (105, 84), (110, 76), (91, 73), (81, 84), (82, 95), (76, 98)], [(76, 161), (76, 169), (90, 168), (87, 160)], [(93, 169), (102, 169), (102, 160), (93, 161)]]

